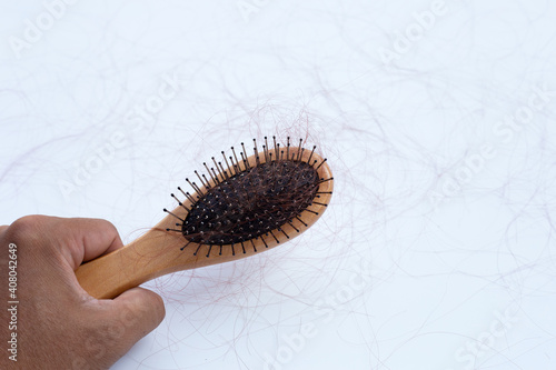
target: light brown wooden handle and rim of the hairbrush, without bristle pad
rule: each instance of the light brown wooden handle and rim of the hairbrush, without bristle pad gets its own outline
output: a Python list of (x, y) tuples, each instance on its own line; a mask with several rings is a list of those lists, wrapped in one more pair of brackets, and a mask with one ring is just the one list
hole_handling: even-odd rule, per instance
[[(290, 148), (290, 151), (297, 153), (297, 148)], [(309, 154), (309, 151), (305, 151), (300, 158), (305, 161), (309, 158), (311, 161), (321, 161), (316, 153), (311, 153), (311, 157)], [(248, 161), (251, 167), (256, 166), (255, 156), (249, 157)], [(264, 162), (264, 159), (259, 158), (259, 161)], [(232, 174), (230, 169), (226, 171)], [(331, 171), (326, 162), (319, 167), (318, 176), (320, 179), (331, 179)], [(215, 186), (214, 181), (209, 184)], [(328, 204), (334, 181), (322, 182), (319, 187), (319, 192), (321, 192), (319, 203)], [(201, 191), (205, 192), (205, 190), (206, 188), (202, 187)], [(191, 206), (189, 201), (185, 201), (183, 204), (188, 208)], [(302, 212), (300, 220), (294, 219), (291, 224), (282, 226), (281, 230), (291, 238), (296, 237), (320, 218), (326, 206), (312, 204), (307, 209), (312, 212)], [(172, 213), (183, 219), (187, 217), (187, 210), (183, 207), (176, 208)], [(265, 237), (264, 240), (259, 238), (252, 243), (251, 241), (244, 242), (245, 252), (240, 244), (236, 244), (235, 248), (232, 246), (220, 248), (192, 242), (181, 250), (188, 243), (185, 237), (166, 231), (175, 228), (175, 224), (176, 218), (168, 214), (155, 228), (126, 247), (81, 264), (76, 270), (79, 283), (95, 298), (115, 298), (130, 288), (170, 272), (237, 260), (255, 254), (255, 249), (260, 252), (279, 244), (274, 238)], [(287, 239), (281, 238), (281, 240)]]

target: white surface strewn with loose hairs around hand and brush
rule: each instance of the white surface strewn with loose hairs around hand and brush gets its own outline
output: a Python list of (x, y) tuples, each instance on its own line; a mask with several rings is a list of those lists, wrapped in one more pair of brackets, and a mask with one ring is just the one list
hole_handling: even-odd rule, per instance
[(555, 369), (556, 4), (246, 2), (81, 0), (49, 24), (1, 1), (0, 223), (130, 241), (202, 161), (275, 132), (308, 128), (335, 171), (301, 238), (149, 284), (167, 318), (113, 369)]

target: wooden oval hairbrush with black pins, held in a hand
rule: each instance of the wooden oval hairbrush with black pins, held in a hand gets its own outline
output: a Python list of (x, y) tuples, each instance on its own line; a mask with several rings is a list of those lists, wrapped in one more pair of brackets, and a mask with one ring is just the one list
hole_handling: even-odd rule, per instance
[[(148, 280), (180, 270), (228, 262), (259, 253), (312, 226), (330, 202), (334, 178), (326, 159), (312, 150), (265, 137), (259, 152), (231, 148), (192, 192), (178, 187), (178, 207), (135, 241), (76, 270), (81, 287), (98, 299), (115, 298)], [(238, 157), (239, 152), (239, 157)]]

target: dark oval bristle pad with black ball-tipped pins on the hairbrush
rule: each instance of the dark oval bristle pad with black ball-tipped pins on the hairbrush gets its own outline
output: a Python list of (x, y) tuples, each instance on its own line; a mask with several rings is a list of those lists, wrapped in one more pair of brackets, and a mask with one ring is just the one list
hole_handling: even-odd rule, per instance
[[(311, 204), (327, 206), (315, 201), (316, 198), (320, 198), (319, 194), (331, 194), (319, 191), (320, 183), (332, 180), (318, 176), (318, 170), (326, 159), (316, 166), (317, 160), (314, 157), (316, 147), (304, 159), (302, 139), (299, 140), (299, 148), (294, 148), (292, 151), (289, 137), (287, 146), (284, 146), (286, 148), (280, 148), (276, 137), (272, 139), (270, 144), (274, 146), (274, 152), (268, 147), (267, 137), (261, 152), (258, 152), (257, 140), (254, 139), (255, 156), (251, 158), (254, 160), (251, 164), (248, 162), (244, 143), (241, 143), (242, 150), (239, 151), (240, 158), (231, 147), (234, 156), (227, 157), (224, 151), (221, 152), (224, 162), (218, 162), (212, 157), (214, 168), (209, 169), (207, 163), (202, 163), (210, 179), (195, 171), (201, 186), (186, 179), (195, 190), (192, 194), (178, 187), (189, 201), (186, 202), (189, 208), (173, 193), (171, 194), (179, 206), (188, 211), (182, 220), (165, 209), (165, 212), (181, 221), (176, 223), (181, 230), (168, 229), (181, 232), (188, 240), (181, 250), (193, 242), (198, 244), (193, 256), (197, 256), (201, 246), (208, 246), (208, 250), (205, 250), (207, 257), (217, 253), (211, 252), (212, 247), (219, 248), (218, 256), (222, 256), (222, 248), (231, 247), (231, 256), (236, 256), (236, 244), (241, 244), (241, 251), (247, 253), (245, 242), (250, 241), (252, 251), (257, 252), (255, 240), (260, 238), (261, 243), (269, 248), (265, 238), (271, 238), (272, 246), (275, 242), (280, 243), (280, 240), (290, 239), (295, 237), (291, 236), (292, 230), (301, 232), (300, 224), (308, 227), (301, 213), (307, 211), (319, 214), (308, 208)], [(286, 232), (284, 226), (288, 226), (288, 230), (291, 231)]]

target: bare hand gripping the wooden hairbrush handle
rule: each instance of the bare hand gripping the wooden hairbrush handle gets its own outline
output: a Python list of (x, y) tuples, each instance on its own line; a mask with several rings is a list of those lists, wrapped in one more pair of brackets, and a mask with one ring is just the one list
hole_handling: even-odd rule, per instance
[[(9, 359), (9, 244), (17, 246), (17, 362)], [(165, 317), (162, 299), (133, 288), (97, 300), (75, 270), (122, 247), (98, 219), (28, 216), (0, 227), (0, 369), (108, 369)]]

